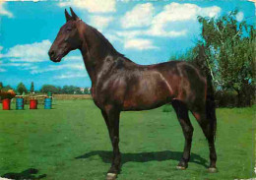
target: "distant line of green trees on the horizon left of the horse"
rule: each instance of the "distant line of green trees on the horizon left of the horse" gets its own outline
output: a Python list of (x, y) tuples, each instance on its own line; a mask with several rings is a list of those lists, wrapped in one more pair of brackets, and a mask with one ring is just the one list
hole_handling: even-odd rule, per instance
[(20, 83), (16, 89), (13, 89), (11, 86), (7, 85), (4, 86), (2, 82), (0, 82), (0, 90), (7, 91), (7, 90), (15, 90), (16, 93), (22, 94), (22, 93), (47, 93), (52, 92), (55, 94), (90, 94), (90, 88), (79, 88), (76, 86), (64, 86), (64, 87), (56, 87), (53, 85), (43, 85), (40, 90), (34, 90), (33, 82), (31, 84), (30, 90), (26, 88), (26, 86), (23, 83)]

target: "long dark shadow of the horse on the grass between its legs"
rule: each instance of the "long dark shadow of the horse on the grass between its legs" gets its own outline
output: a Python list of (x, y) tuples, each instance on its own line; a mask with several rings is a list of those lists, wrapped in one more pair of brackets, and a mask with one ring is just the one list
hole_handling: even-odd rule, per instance
[[(181, 151), (153, 151), (153, 152), (139, 152), (139, 153), (122, 153), (122, 164), (126, 162), (148, 162), (148, 161), (164, 161), (164, 160), (176, 160), (179, 161), (182, 157), (183, 152)], [(91, 156), (98, 155), (101, 157), (103, 162), (111, 163), (112, 151), (106, 150), (95, 150), (75, 158), (89, 158)], [(207, 166), (207, 160), (196, 153), (191, 153), (190, 162), (198, 163), (205, 167)]]

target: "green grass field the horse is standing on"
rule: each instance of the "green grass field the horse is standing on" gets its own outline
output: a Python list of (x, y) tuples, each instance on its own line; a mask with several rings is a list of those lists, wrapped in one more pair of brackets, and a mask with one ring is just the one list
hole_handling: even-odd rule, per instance
[[(14, 107), (13, 107), (14, 109)], [(172, 112), (123, 112), (120, 121), (122, 172), (119, 180), (228, 180), (255, 177), (255, 106), (217, 110), (218, 168), (207, 172), (208, 145), (195, 132), (189, 167), (175, 169), (184, 139)], [(111, 147), (91, 99), (54, 101), (53, 109), (0, 110), (0, 176), (16, 179), (102, 180)]]

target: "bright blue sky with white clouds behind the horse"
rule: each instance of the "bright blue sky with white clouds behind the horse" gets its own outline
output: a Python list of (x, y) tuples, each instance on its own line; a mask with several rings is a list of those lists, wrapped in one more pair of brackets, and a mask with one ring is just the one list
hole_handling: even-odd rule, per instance
[(44, 84), (91, 86), (78, 50), (58, 64), (47, 56), (69, 6), (139, 64), (167, 61), (195, 45), (198, 15), (218, 17), (237, 8), (238, 21), (255, 22), (255, 5), (248, 1), (1, 1), (0, 82), (13, 88), (23, 82), (30, 88), (33, 81), (36, 90)]

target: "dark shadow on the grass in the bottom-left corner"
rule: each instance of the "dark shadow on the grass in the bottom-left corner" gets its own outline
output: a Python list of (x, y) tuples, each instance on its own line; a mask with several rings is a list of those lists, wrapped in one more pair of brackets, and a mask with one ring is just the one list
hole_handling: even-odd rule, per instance
[(15, 172), (6, 173), (6, 174), (2, 175), (1, 177), (5, 177), (8, 179), (15, 179), (15, 180), (24, 180), (24, 179), (36, 180), (36, 179), (41, 179), (41, 178), (46, 177), (46, 174), (42, 174), (42, 175), (39, 175), (36, 177), (34, 174), (37, 174), (37, 173), (38, 173), (37, 169), (30, 168), (21, 173), (15, 173)]

